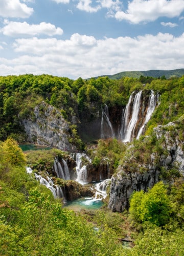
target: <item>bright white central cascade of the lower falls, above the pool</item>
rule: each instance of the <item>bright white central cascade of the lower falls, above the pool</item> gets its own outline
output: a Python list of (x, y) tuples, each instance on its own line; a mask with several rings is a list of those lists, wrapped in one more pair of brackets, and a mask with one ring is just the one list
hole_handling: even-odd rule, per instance
[(76, 154), (76, 172), (77, 172), (77, 179), (80, 184), (87, 183), (87, 168), (86, 165), (82, 165), (82, 157), (86, 158), (87, 161), (91, 162), (91, 159), (86, 156), (86, 154), (77, 153)]

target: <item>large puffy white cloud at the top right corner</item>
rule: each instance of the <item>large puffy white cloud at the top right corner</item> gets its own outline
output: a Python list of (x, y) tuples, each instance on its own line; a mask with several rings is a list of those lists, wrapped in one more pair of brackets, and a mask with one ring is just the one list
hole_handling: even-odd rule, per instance
[(176, 17), (184, 10), (184, 0), (133, 0), (128, 3), (126, 12), (118, 11), (118, 20), (130, 23), (151, 22), (159, 17)]

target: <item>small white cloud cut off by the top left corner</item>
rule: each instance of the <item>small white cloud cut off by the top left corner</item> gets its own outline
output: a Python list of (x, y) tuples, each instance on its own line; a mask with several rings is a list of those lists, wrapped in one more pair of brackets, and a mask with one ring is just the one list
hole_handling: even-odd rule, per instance
[(19, 0), (1, 0), (0, 1), (0, 16), (2, 17), (19, 17), (28, 18), (33, 13), (33, 8), (28, 7)]

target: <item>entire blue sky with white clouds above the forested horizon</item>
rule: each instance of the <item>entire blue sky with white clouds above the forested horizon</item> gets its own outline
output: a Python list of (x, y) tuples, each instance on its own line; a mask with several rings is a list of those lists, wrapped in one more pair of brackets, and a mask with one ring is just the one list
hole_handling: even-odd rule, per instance
[(0, 0), (0, 75), (184, 68), (184, 0)]

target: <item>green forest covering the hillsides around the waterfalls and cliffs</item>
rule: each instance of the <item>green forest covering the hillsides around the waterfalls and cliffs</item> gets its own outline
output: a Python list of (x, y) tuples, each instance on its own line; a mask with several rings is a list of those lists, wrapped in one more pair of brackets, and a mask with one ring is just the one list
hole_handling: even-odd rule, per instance
[[(130, 95), (139, 91), (158, 95), (139, 139), (124, 143), (118, 138), (84, 136), (82, 126), (95, 122), (105, 105), (111, 112), (124, 109)], [(179, 147), (184, 161), (183, 95), (184, 76), (117, 80), (107, 76), (87, 80), (47, 74), (1, 76), (0, 255), (184, 255), (184, 170), (174, 153)], [(37, 106), (40, 116), (48, 113), (48, 106), (54, 108), (53, 118), (62, 116), (71, 148), (86, 152), (94, 169), (106, 161), (111, 176), (119, 180), (126, 174), (146, 174), (154, 165), (158, 182), (146, 190), (134, 189), (122, 212), (108, 207), (110, 187), (98, 210), (64, 207), (62, 198), (54, 198), (34, 172), (48, 171), (54, 157), (67, 152), (53, 148), (33, 154), (19, 147), (33, 143), (22, 122), (35, 122)], [(44, 131), (43, 124), (39, 125)], [(164, 133), (158, 136), (156, 127)], [(26, 166), (34, 172), (28, 174)], [(56, 180), (57, 184), (71, 182)], [(127, 243), (122, 242), (124, 238)]]

